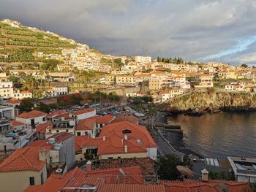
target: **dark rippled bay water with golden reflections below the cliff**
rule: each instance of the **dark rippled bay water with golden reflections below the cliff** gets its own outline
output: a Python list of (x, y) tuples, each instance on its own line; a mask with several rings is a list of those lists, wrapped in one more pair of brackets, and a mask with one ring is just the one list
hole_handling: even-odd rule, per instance
[(187, 148), (203, 156), (256, 158), (256, 112), (223, 112), (201, 117), (171, 115), (181, 126)]

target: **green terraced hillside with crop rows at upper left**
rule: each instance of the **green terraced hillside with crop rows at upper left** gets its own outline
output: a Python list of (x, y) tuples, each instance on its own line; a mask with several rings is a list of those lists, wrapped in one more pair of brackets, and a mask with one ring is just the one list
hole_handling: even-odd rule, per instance
[(35, 53), (61, 54), (63, 48), (72, 47), (77, 47), (72, 39), (22, 26), (17, 21), (0, 21), (0, 62), (34, 61)]

